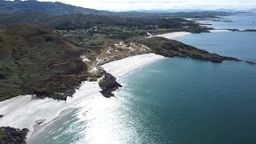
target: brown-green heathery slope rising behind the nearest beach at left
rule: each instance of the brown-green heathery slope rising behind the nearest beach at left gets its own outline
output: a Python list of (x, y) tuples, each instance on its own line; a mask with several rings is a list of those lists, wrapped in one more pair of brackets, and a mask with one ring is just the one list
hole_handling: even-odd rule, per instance
[(22, 94), (65, 99), (86, 79), (81, 54), (48, 28), (1, 26), (0, 101)]

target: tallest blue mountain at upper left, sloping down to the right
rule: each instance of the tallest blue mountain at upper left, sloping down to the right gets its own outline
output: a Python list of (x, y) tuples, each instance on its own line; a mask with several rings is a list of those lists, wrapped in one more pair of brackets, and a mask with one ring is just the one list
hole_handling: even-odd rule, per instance
[(78, 6), (71, 6), (62, 2), (38, 2), (35, 0), (21, 1), (0, 1), (0, 13), (45, 13), (54, 15), (64, 14), (114, 14), (109, 11), (87, 9)]

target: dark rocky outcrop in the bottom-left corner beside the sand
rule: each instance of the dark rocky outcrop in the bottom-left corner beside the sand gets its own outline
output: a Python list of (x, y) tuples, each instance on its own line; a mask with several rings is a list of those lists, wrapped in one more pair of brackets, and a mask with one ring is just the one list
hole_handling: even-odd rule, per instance
[(14, 129), (12, 127), (0, 127), (1, 144), (26, 144), (28, 129)]

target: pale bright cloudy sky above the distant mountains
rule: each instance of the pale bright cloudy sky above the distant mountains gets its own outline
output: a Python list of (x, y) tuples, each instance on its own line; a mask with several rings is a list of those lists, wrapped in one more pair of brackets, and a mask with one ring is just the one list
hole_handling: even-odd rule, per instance
[(38, 0), (63, 2), (96, 10), (249, 10), (256, 7), (256, 0)]

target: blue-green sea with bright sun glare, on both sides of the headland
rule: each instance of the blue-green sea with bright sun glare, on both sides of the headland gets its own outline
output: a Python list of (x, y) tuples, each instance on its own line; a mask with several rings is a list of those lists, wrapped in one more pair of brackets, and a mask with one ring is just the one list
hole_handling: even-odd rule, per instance
[[(254, 32), (175, 39), (213, 53), (256, 60)], [(115, 98), (98, 95), (79, 103), (29, 143), (256, 142), (254, 65), (165, 58), (134, 70), (119, 82), (123, 88), (115, 92)]]

